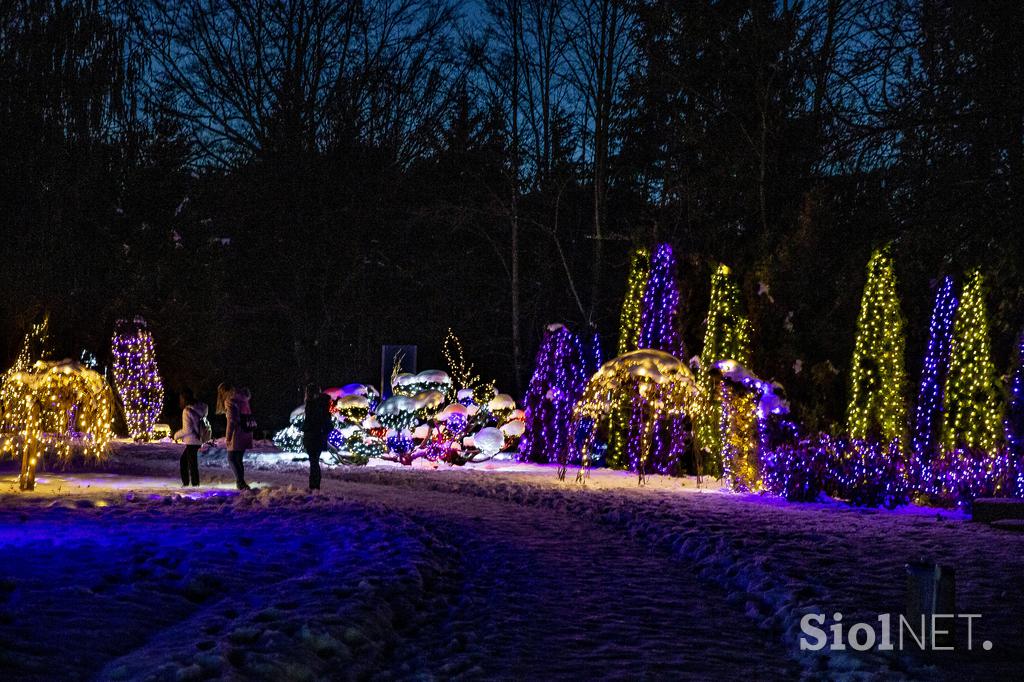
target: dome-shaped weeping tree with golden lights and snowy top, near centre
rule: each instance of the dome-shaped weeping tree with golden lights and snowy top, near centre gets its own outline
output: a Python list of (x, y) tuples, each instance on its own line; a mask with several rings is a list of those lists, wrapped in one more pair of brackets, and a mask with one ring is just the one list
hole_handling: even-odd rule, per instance
[[(596, 425), (606, 419), (620, 395), (632, 395), (632, 414), (637, 422), (637, 476), (640, 483), (646, 477), (646, 464), (659, 430), (677, 434), (686, 417), (691, 419), (705, 407), (706, 400), (693, 379), (693, 374), (679, 358), (660, 350), (634, 350), (601, 366), (584, 389), (583, 397), (572, 409), (573, 432), (586, 425), (580, 472), (583, 482), (590, 470), (590, 454), (594, 445)], [(558, 477), (565, 478), (567, 461), (560, 463)]]

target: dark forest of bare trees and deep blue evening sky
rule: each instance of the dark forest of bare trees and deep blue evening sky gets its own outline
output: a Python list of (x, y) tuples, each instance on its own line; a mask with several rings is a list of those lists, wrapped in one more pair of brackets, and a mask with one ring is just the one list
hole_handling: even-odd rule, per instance
[[(615, 345), (671, 242), (699, 352), (718, 262), (754, 369), (842, 416), (870, 250), (920, 371), (933, 288), (1024, 321), (1024, 4), (1006, 0), (3, 0), (0, 359), (50, 314), (103, 363), (141, 314), (169, 391), (283, 423), (380, 344), (521, 395), (544, 326)], [(173, 414), (169, 413), (173, 419)]]

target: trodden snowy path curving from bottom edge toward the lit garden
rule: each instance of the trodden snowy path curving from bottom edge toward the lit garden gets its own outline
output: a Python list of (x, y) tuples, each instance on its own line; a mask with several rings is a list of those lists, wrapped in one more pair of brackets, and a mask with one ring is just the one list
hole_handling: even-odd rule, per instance
[(751, 628), (717, 586), (588, 519), (367, 484), (346, 486), (344, 497), (412, 512), (450, 546), (446, 594), (403, 633), (398, 674), (407, 666), (516, 679), (796, 671), (776, 638)]

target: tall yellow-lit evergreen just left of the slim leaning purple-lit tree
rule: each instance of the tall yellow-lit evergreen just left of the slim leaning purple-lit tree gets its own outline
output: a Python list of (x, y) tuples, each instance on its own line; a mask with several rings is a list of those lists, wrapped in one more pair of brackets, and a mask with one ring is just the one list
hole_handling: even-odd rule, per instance
[(854, 438), (902, 439), (906, 433), (903, 315), (888, 248), (867, 263), (850, 375), (847, 428)]

